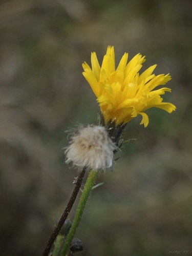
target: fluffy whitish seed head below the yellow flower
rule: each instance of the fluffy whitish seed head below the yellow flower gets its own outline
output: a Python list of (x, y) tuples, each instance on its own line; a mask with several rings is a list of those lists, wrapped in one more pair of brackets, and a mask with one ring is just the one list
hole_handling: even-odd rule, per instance
[(98, 170), (113, 165), (113, 151), (117, 149), (103, 126), (79, 127), (67, 147), (66, 163)]

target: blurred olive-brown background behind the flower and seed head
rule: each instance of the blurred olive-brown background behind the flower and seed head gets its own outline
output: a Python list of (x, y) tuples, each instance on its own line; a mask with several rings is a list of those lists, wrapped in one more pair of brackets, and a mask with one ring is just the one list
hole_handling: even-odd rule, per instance
[(127, 125), (137, 140), (100, 175), (76, 234), (83, 255), (192, 255), (191, 25), (190, 0), (1, 1), (1, 256), (40, 255), (65, 209), (77, 176), (65, 131), (99, 112), (81, 64), (91, 51), (101, 62), (108, 45), (116, 62), (140, 52), (142, 70), (170, 73), (164, 99), (177, 110)]

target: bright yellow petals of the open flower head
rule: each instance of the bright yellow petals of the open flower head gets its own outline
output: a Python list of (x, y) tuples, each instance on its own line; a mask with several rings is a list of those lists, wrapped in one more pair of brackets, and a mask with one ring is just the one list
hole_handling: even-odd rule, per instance
[(140, 124), (148, 125), (148, 116), (144, 111), (156, 107), (171, 113), (176, 107), (171, 103), (162, 102), (160, 95), (171, 91), (163, 87), (154, 90), (159, 85), (166, 84), (169, 74), (152, 74), (157, 65), (153, 65), (139, 74), (145, 56), (137, 54), (127, 63), (128, 53), (124, 53), (117, 68), (115, 68), (114, 47), (108, 46), (100, 67), (95, 52), (91, 53), (91, 65), (82, 64), (83, 76), (90, 84), (97, 97), (105, 125), (109, 120), (125, 124), (138, 114), (142, 115)]

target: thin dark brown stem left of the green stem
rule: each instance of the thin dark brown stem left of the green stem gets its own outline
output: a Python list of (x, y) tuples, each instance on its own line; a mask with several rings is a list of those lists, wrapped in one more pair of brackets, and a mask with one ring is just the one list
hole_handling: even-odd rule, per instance
[(49, 240), (47, 242), (46, 248), (45, 248), (44, 252), (42, 252), (41, 256), (48, 256), (49, 255), (51, 247), (52, 247), (52, 245), (53, 245), (53, 243), (54, 243), (54, 241), (55, 241), (55, 239), (56, 239), (60, 229), (62, 228), (62, 225), (66, 221), (67, 216), (68, 216), (69, 212), (71, 211), (71, 208), (72, 208), (72, 206), (73, 206), (73, 204), (75, 202), (75, 199), (76, 199), (77, 194), (79, 192), (79, 189), (81, 187), (81, 184), (82, 184), (85, 172), (86, 172), (86, 167), (84, 167), (82, 169), (82, 171), (80, 172), (80, 174), (78, 176), (78, 179), (75, 181), (75, 183), (74, 183), (75, 184), (75, 188), (74, 188), (73, 193), (71, 195), (71, 198), (70, 198), (70, 200), (68, 202), (68, 205), (67, 205), (65, 211), (63, 212), (63, 214), (62, 214), (62, 216), (61, 216), (57, 226), (53, 230), (53, 232), (52, 232), (52, 234), (51, 234), (51, 236), (50, 236), (50, 238), (49, 238)]

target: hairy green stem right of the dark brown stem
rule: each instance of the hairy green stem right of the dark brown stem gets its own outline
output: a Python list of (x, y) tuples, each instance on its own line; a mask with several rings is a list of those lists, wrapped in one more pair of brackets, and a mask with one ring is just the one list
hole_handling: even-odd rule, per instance
[(78, 207), (77, 207), (75, 218), (73, 220), (73, 224), (72, 224), (71, 229), (68, 233), (65, 244), (63, 245), (60, 256), (66, 256), (66, 254), (67, 254), (68, 248), (69, 248), (69, 246), (71, 244), (71, 241), (72, 241), (72, 239), (75, 235), (75, 232), (76, 232), (76, 230), (79, 226), (79, 223), (80, 223), (81, 218), (82, 218), (82, 214), (84, 212), (84, 208), (86, 207), (86, 203), (89, 199), (89, 196), (91, 194), (91, 190), (92, 190), (92, 188), (95, 184), (95, 181), (98, 177), (98, 174), (99, 174), (98, 171), (90, 171), (90, 174), (88, 176), (86, 184), (84, 185), (84, 189), (82, 191), (81, 198), (79, 200), (79, 204), (78, 204)]

